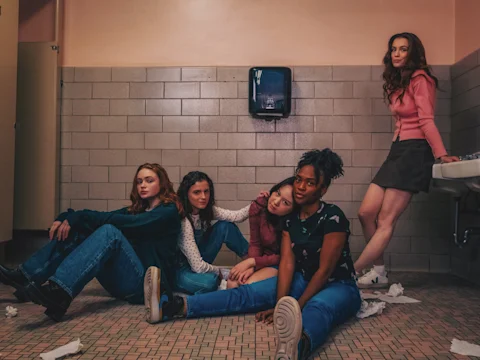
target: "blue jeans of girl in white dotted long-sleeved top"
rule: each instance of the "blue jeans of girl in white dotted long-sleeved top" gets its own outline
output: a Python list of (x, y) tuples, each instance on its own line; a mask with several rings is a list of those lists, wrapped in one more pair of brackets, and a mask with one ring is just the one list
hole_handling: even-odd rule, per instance
[[(204, 261), (209, 264), (213, 263), (223, 244), (240, 257), (248, 254), (248, 241), (243, 237), (237, 225), (228, 221), (218, 221), (210, 230), (208, 238), (204, 238), (203, 231), (195, 231), (195, 242)], [(218, 284), (218, 275), (195, 273), (188, 263), (182, 264), (176, 271), (177, 290), (188, 294), (215, 291)]]

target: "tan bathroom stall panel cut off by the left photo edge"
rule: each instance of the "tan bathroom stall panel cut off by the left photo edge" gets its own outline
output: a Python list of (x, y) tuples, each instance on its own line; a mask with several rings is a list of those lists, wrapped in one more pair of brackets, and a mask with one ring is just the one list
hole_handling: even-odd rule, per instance
[(12, 239), (18, 0), (0, 0), (0, 242)]

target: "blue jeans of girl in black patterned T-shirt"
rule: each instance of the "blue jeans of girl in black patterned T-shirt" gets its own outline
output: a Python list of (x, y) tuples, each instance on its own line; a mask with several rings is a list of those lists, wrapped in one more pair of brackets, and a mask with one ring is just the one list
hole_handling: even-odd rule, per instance
[[(308, 281), (296, 272), (290, 296), (299, 299)], [(277, 277), (243, 285), (235, 289), (188, 296), (187, 317), (230, 315), (272, 309), (277, 300)], [(328, 283), (313, 296), (302, 310), (303, 331), (310, 339), (311, 349), (322, 345), (334, 326), (354, 316), (361, 298), (353, 280)]]

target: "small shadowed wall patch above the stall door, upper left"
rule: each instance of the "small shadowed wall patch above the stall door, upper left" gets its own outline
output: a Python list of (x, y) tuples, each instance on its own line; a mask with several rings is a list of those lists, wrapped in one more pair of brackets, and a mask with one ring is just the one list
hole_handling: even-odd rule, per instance
[(55, 41), (55, 0), (20, 0), (18, 41)]

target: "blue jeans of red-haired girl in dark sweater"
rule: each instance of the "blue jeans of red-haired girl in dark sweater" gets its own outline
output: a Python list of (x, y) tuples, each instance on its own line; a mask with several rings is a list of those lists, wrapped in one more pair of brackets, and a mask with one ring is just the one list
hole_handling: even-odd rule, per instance
[(145, 268), (113, 225), (103, 225), (87, 238), (75, 234), (65, 241), (50, 241), (19, 268), (35, 283), (54, 281), (72, 298), (96, 277), (113, 297), (143, 302)]

